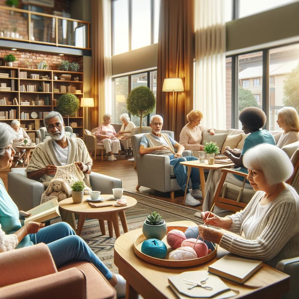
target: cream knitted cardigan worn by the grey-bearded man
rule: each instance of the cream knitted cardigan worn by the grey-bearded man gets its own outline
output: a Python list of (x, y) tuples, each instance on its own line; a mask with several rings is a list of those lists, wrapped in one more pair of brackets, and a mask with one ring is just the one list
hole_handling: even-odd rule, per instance
[[(80, 138), (66, 137), (69, 146), (68, 164), (82, 162), (86, 166), (92, 165), (92, 159), (89, 156), (87, 148)], [(62, 166), (54, 151), (52, 139), (40, 143), (33, 151), (32, 158), (26, 168), (26, 172), (33, 172), (45, 168), (47, 165)], [(49, 182), (54, 176), (44, 175), (38, 181), (48, 187)], [(90, 186), (89, 175), (84, 173), (84, 179), (87, 187)]]

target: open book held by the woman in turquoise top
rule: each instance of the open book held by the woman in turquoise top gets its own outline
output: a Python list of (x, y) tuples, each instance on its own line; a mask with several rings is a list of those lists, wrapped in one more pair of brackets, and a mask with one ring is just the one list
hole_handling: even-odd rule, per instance
[(43, 204), (27, 211), (30, 216), (25, 217), (24, 224), (29, 221), (46, 222), (48, 220), (60, 217), (58, 200), (56, 198), (44, 202)]

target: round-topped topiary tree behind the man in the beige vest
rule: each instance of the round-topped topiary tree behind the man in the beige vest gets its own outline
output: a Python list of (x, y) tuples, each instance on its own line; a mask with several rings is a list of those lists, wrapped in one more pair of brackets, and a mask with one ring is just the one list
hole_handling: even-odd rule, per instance
[(131, 115), (140, 117), (140, 133), (142, 118), (155, 111), (156, 97), (147, 86), (132, 89), (126, 99), (127, 110)]

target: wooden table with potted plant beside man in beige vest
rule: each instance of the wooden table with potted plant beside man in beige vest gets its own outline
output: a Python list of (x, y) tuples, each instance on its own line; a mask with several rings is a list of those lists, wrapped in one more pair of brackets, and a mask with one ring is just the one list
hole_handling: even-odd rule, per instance
[(187, 170), (187, 184), (186, 184), (186, 188), (185, 188), (185, 195), (184, 195), (184, 200), (183, 200), (183, 205), (185, 203), (185, 199), (186, 199), (186, 193), (187, 193), (187, 188), (188, 188), (188, 182), (190, 179), (190, 173), (191, 173), (191, 168), (195, 167), (199, 169), (199, 176), (200, 176), (200, 185), (202, 188), (202, 199), (205, 199), (205, 173), (204, 173), (204, 169), (220, 169), (220, 168), (231, 168), (232, 166), (234, 166), (234, 163), (230, 163), (230, 164), (208, 164), (208, 163), (199, 163), (199, 160), (195, 160), (195, 161), (185, 161), (185, 162), (180, 162), (180, 164), (185, 165), (188, 167)]

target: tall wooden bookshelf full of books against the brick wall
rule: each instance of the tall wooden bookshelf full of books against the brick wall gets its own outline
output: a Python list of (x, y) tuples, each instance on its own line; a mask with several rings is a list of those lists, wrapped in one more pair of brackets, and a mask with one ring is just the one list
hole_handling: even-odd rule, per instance
[[(34, 76), (31, 76), (31, 74), (33, 74)], [(63, 75), (62, 77), (65, 77), (65, 79), (71, 80), (62, 80), (63, 78), (60, 78), (61, 75)], [(55, 76), (57, 76), (57, 80), (54, 79)], [(39, 79), (36, 79), (37, 77)], [(42, 77), (45, 77), (46, 79), (41, 79)], [(78, 81), (74, 81), (73, 78), (77, 77)], [(7, 102), (7, 105), (0, 105), (0, 121), (6, 122), (10, 125), (11, 120), (17, 119), (21, 124), (25, 125), (26, 128), (28, 128), (28, 125), (31, 124), (33, 129), (26, 130), (26, 132), (34, 133), (34, 136), (36, 130), (38, 129), (37, 121), (39, 121), (41, 126), (44, 126), (42, 123), (42, 117), (43, 115), (45, 115), (44, 113), (56, 109), (57, 106), (55, 101), (53, 100), (58, 100), (61, 94), (67, 93), (67, 91), (74, 90), (80, 90), (81, 92), (69, 93), (75, 94), (80, 101), (83, 97), (82, 72), (39, 70), (0, 66), (0, 83), (6, 83), (6, 87), (8, 87), (5, 90), (0, 90), (0, 100), (5, 98)], [(8, 90), (9, 87), (11, 90)], [(54, 92), (54, 90), (58, 90), (59, 92)], [(15, 100), (13, 100), (14, 98), (16, 99), (17, 104), (14, 104), (16, 102)], [(29, 105), (23, 104), (25, 102), (29, 102)], [(33, 102), (34, 105), (32, 105)], [(39, 103), (39, 105), (35, 105), (35, 103)], [(10, 113), (11, 110), (15, 111)], [(37, 118), (31, 117), (32, 112), (37, 113)], [(15, 113), (16, 117), (10, 118), (12, 117), (12, 115), (14, 115), (13, 113)], [(8, 118), (4, 119), (3, 115), (8, 116)], [(24, 118), (24, 115), (28, 119), (22, 119)], [(63, 117), (63, 120), (65, 122), (65, 126), (67, 126), (67, 117)], [(82, 107), (79, 108), (76, 117), (69, 117), (70, 126), (71, 123), (77, 123), (77, 127), (72, 126), (73, 132), (79, 134), (79, 138), (83, 138), (84, 119)], [(33, 136), (33, 134), (30, 135)]]

